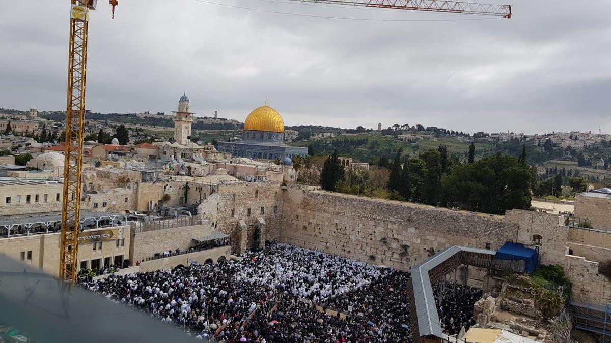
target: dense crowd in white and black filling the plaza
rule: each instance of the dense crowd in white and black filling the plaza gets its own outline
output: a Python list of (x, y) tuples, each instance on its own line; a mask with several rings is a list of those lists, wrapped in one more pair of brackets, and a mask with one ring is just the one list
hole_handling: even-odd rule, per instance
[[(274, 244), (237, 261), (88, 278), (81, 286), (204, 341), (412, 342), (408, 280), (409, 273)], [(448, 331), (469, 325), (477, 292), (461, 291), (441, 297)]]

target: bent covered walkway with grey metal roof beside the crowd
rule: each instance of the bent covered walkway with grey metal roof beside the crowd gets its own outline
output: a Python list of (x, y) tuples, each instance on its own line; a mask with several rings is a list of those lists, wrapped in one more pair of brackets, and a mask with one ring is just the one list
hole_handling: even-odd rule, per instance
[(495, 255), (496, 251), (493, 250), (453, 245), (411, 269), (412, 277), (408, 281), (408, 291), (412, 294), (409, 300), (409, 316), (416, 342), (420, 342), (423, 337), (443, 338), (433, 295), (433, 283), (461, 264), (493, 268)]

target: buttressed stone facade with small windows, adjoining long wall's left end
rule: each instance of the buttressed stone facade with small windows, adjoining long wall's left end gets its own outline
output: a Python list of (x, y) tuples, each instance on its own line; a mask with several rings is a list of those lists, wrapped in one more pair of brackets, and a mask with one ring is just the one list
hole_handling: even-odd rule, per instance
[[(278, 181), (219, 185), (218, 191), (204, 200), (197, 210), (210, 220), (218, 231), (229, 234), (232, 238), (239, 237), (246, 242), (247, 247), (252, 247), (258, 218), (265, 220), (260, 230), (266, 240), (279, 237), (282, 211), (283, 198)], [(238, 225), (240, 220), (246, 223), (246, 234), (243, 234)], [(236, 242), (235, 245), (240, 244)]]

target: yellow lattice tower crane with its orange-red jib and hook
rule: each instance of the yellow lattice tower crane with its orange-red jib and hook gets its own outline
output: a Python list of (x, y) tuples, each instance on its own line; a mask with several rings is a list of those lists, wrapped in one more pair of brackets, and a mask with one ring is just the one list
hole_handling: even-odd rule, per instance
[[(293, 0), (323, 4), (356, 5), (399, 10), (469, 13), (511, 18), (511, 5), (476, 4), (442, 0)], [(82, 142), (85, 122), (87, 75), (87, 28), (89, 12), (97, 0), (71, 0), (70, 54), (68, 55), (68, 104), (66, 109), (64, 153), (64, 199), (60, 239), (59, 278), (76, 282), (78, 273), (78, 234), (81, 210)], [(110, 0), (112, 18), (118, 0)]]

